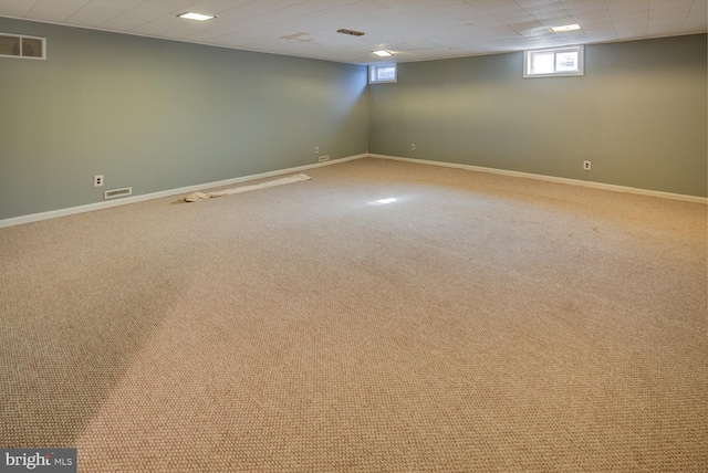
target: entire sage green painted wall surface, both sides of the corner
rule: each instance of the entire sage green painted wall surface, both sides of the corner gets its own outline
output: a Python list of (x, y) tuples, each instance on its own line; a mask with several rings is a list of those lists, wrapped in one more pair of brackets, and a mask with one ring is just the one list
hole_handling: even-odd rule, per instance
[(524, 80), (509, 53), (403, 63), (397, 84), (367, 88), (357, 65), (3, 18), (0, 31), (49, 51), (0, 57), (0, 220), (312, 164), (314, 146), (707, 195), (705, 34), (587, 45), (582, 77)]

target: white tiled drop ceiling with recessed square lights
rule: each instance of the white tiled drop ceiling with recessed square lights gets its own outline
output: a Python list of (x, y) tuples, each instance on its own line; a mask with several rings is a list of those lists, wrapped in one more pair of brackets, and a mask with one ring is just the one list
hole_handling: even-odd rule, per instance
[[(706, 32), (707, 0), (0, 0), (0, 17), (355, 64)], [(184, 20), (186, 11), (216, 14)], [(577, 23), (580, 31), (549, 27)], [(362, 31), (363, 36), (336, 30)], [(15, 32), (21, 33), (21, 32)]]

